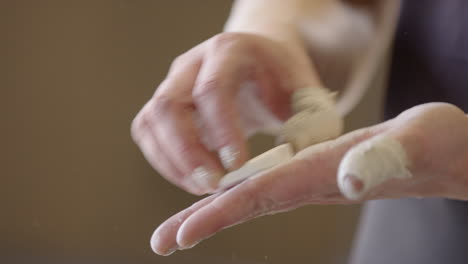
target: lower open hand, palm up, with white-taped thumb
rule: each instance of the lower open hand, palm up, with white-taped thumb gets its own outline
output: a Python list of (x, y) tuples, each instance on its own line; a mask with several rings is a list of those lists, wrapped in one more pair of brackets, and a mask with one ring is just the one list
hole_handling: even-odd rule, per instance
[(167, 255), (224, 228), (307, 204), (434, 196), (467, 200), (467, 135), (468, 118), (458, 108), (414, 107), (306, 148), (284, 165), (195, 203), (159, 226), (152, 248)]

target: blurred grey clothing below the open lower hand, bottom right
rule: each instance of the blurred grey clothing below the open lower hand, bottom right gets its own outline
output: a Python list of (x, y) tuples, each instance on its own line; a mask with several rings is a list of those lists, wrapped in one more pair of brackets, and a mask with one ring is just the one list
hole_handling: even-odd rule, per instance
[(368, 202), (353, 264), (468, 263), (468, 206), (446, 199)]

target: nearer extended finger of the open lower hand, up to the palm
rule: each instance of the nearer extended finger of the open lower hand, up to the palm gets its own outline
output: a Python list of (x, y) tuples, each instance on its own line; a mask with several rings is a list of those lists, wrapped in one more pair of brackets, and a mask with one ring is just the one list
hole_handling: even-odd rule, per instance
[(303, 175), (298, 170), (296, 164), (288, 164), (225, 192), (182, 224), (177, 233), (177, 243), (190, 248), (227, 227), (266, 213), (299, 206), (301, 201), (297, 197), (302, 198), (304, 193), (298, 186), (304, 187), (304, 182), (300, 182), (299, 178), (287, 180), (289, 183), (299, 181), (296, 184), (281, 181), (286, 175)]

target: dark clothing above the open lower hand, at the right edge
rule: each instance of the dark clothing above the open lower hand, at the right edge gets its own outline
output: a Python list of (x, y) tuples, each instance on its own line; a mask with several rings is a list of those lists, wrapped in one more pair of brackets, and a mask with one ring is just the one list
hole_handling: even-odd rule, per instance
[(427, 102), (468, 111), (468, 1), (404, 1), (386, 118)]

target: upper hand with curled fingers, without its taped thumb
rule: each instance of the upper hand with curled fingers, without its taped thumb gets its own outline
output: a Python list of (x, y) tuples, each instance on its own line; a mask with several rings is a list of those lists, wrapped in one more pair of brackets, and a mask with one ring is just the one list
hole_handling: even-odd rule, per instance
[(291, 114), (291, 93), (318, 85), (297, 48), (241, 33), (205, 41), (174, 60), (133, 121), (133, 139), (170, 182), (214, 192), (225, 170), (249, 158), (246, 137), (277, 129)]

